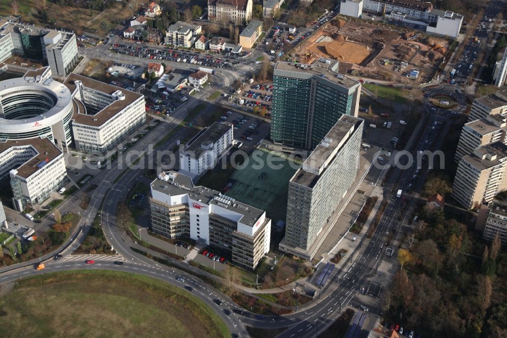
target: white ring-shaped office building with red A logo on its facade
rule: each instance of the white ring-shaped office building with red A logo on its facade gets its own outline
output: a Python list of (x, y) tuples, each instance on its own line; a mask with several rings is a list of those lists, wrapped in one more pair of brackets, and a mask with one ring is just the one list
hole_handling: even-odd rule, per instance
[(50, 67), (0, 81), (0, 142), (48, 138), (67, 151), (73, 107), (70, 90), (51, 79)]

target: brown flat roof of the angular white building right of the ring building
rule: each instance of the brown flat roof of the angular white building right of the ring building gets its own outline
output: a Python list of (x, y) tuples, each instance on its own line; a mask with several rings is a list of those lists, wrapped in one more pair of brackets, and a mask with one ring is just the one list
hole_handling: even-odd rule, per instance
[(87, 115), (84, 114), (83, 111), (75, 111), (72, 118), (74, 121), (78, 124), (85, 124), (90, 126), (101, 126), (105, 122), (109, 121), (113, 117), (115, 117), (116, 114), (118, 114), (121, 110), (125, 109), (127, 106), (131, 105), (135, 102), (135, 100), (139, 99), (143, 95), (135, 93), (133, 91), (120, 88), (117, 86), (113, 86), (110, 84), (106, 84), (97, 80), (93, 80), (90, 78), (87, 78), (86, 76), (70, 73), (69, 76), (65, 79), (63, 84), (67, 86), (67, 88), (70, 90), (71, 93), (74, 93), (74, 90), (76, 89), (76, 85), (74, 84), (75, 81), (81, 81), (85, 87), (106, 93), (106, 94), (113, 94), (115, 91), (121, 91), (123, 94), (125, 94), (124, 100), (116, 100), (112, 104), (106, 106), (104, 109), (96, 113), (95, 115)]

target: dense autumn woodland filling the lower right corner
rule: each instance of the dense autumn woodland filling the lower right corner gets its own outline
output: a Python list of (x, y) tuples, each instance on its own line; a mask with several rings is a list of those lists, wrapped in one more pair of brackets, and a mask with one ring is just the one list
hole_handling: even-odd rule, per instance
[(486, 246), (443, 212), (419, 222), (401, 270), (384, 295), (390, 320), (433, 336), (507, 336), (507, 254), (500, 237)]

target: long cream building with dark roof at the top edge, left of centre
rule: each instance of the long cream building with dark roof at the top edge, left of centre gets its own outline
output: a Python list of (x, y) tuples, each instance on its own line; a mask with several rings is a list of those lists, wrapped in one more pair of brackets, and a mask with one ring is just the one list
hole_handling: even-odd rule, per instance
[(210, 21), (246, 24), (252, 18), (252, 0), (208, 0)]

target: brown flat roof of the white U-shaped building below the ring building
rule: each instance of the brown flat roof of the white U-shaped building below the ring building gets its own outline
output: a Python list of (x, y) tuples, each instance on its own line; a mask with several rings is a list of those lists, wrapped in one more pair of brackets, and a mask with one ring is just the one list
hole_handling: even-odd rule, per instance
[(62, 153), (61, 150), (47, 138), (0, 142), (0, 153), (12, 147), (32, 147), (38, 152), (38, 155), (31, 157), (19, 167), (13, 168), (18, 171), (18, 176), (25, 179), (40, 170), (44, 166), (43, 164), (46, 160), (46, 162), (49, 163)]

